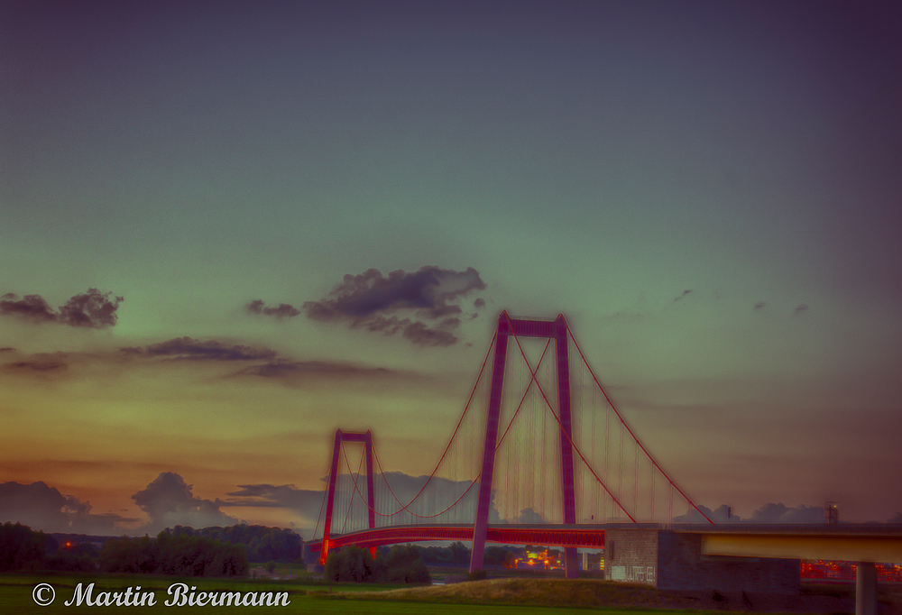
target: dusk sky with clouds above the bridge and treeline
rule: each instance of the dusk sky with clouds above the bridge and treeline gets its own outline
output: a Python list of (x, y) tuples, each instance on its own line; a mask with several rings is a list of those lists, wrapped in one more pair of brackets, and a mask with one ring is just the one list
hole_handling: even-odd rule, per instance
[(708, 509), (898, 520), (900, 74), (891, 2), (0, 0), (0, 520), (308, 533), (502, 310)]

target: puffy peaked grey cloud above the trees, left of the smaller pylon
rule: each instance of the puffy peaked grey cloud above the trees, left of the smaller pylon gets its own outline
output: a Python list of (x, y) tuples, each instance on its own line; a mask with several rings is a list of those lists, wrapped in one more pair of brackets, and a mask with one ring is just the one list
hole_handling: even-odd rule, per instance
[(142, 491), (132, 496), (134, 503), (151, 518), (145, 531), (159, 531), (177, 525), (191, 528), (230, 526), (238, 519), (219, 510), (218, 500), (201, 500), (191, 492), (192, 485), (177, 473), (162, 472)]

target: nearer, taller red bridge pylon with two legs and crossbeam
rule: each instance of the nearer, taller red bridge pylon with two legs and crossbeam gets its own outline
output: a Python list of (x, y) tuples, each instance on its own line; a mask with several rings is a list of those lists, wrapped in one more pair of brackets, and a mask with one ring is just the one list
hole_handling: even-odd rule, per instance
[[(483, 568), (485, 538), (488, 531), (489, 509), (492, 500), (492, 473), (495, 462), (495, 448), (498, 440), (498, 419), (501, 414), (504, 367), (507, 363), (508, 337), (545, 337), (555, 340), (557, 353), (557, 414), (560, 421), (561, 484), (564, 523), (576, 523), (576, 502), (573, 468), (573, 434), (570, 419), (570, 367), (567, 353), (567, 326), (563, 314), (555, 320), (518, 320), (508, 316), (506, 311), (498, 317), (495, 337), (495, 354), (492, 360), (492, 383), (489, 392), (488, 420), (485, 427), (483, 466), (479, 479), (476, 519), (473, 527), (473, 552), (470, 556), (470, 572)], [(575, 579), (576, 548), (564, 548), (566, 577)]]

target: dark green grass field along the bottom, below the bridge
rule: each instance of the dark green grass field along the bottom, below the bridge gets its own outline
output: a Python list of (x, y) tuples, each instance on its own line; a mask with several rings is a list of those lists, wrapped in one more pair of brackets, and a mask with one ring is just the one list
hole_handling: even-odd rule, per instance
[[(50, 583), (56, 598), (49, 606), (40, 606), (32, 598), (32, 590), (39, 583)], [(81, 583), (83, 591), (95, 583), (93, 596), (100, 592), (153, 592), (153, 606), (66, 606)], [(173, 583), (186, 583), (199, 592), (287, 592), (287, 606), (204, 606), (186, 604), (166, 606), (170, 601), (168, 589)], [(140, 590), (138, 587), (140, 586)], [(827, 588), (826, 592), (834, 590)], [(847, 590), (841, 590), (847, 592)], [(50, 592), (45, 592), (45, 596)], [(259, 595), (259, 594), (258, 594)], [(445, 615), (584, 615), (595, 610), (603, 615), (649, 615), (651, 613), (713, 613), (723, 610), (672, 610), (658, 608), (661, 596), (651, 588), (602, 583), (594, 580), (564, 581), (557, 579), (495, 579), (478, 583), (456, 583), (445, 586), (399, 589), (398, 586), (336, 583), (329, 586), (303, 580), (272, 581), (249, 579), (178, 579), (157, 575), (0, 575), (0, 613), (18, 615), (41, 613), (360, 613), (361, 615), (417, 615), (437, 613)], [(654, 605), (654, 608), (649, 606)], [(665, 606), (679, 607), (678, 602)], [(709, 605), (710, 606), (710, 605)], [(749, 611), (746, 611), (747, 613)]]

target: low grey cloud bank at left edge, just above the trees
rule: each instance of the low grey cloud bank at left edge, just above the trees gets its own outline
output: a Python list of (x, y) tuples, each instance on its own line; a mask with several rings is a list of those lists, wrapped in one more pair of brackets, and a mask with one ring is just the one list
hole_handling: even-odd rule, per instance
[(0, 484), (0, 521), (17, 521), (45, 532), (109, 535), (118, 524), (136, 520), (115, 514), (92, 514), (90, 502), (62, 495), (45, 482)]

